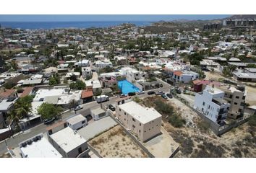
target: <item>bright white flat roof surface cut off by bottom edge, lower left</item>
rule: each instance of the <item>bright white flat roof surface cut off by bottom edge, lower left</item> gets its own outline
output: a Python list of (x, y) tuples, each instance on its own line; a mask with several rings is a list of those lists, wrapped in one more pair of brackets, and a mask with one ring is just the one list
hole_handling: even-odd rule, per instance
[(26, 145), (25, 147), (20, 147), (20, 151), (27, 158), (40, 157), (40, 158), (49, 158), (56, 157), (61, 158), (61, 154), (57, 151), (51, 143), (44, 137), (40, 138), (38, 141), (33, 141), (31, 145)]

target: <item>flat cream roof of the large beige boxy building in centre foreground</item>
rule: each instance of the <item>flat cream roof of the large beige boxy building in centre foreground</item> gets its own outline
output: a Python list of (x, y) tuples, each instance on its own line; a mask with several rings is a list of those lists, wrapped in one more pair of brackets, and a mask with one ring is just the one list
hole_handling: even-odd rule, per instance
[(134, 101), (124, 103), (123, 105), (119, 105), (119, 107), (143, 124), (162, 117), (153, 107), (142, 107)]

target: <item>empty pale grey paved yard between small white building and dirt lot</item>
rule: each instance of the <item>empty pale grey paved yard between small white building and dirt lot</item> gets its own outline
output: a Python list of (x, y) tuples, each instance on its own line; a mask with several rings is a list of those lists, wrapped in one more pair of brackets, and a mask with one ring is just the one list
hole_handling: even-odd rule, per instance
[(111, 117), (103, 117), (102, 119), (90, 123), (80, 130), (77, 130), (77, 133), (89, 141), (91, 138), (108, 130), (109, 128), (114, 127), (115, 125), (117, 125), (117, 123)]

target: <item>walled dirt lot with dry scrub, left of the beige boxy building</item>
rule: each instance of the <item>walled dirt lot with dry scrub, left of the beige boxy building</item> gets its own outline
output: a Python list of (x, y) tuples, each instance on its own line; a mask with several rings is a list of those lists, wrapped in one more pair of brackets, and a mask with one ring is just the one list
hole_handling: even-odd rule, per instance
[(148, 157), (119, 125), (89, 141), (103, 157)]

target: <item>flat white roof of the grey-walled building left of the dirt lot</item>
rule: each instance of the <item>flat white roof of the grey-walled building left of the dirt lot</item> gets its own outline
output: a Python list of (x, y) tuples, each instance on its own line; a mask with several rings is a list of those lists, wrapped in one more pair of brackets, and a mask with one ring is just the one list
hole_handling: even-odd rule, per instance
[(77, 146), (86, 143), (85, 138), (74, 132), (72, 128), (64, 128), (51, 135), (51, 138), (66, 152), (72, 151)]

